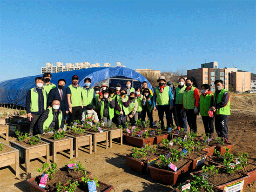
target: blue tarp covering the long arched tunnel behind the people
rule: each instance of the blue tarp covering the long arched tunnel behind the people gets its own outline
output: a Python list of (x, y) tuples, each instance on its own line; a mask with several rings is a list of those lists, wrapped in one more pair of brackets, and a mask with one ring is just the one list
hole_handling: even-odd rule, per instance
[[(139, 80), (141, 83), (147, 81), (143, 75), (135, 72), (132, 69), (113, 66), (113, 67), (93, 67), (88, 69), (74, 70), (61, 73), (52, 73), (51, 82), (57, 85), (59, 79), (66, 80), (66, 86), (71, 84), (73, 75), (79, 77), (79, 85), (84, 86), (84, 79), (89, 77), (92, 79), (91, 86), (95, 83), (108, 79), (110, 77), (124, 76), (131, 79)], [(34, 79), (42, 74), (30, 77), (23, 77), (20, 79), (11, 79), (0, 82), (0, 103), (15, 104), (17, 106), (24, 106), (26, 103), (27, 91), (35, 86)], [(148, 88), (152, 90), (152, 86), (148, 82)]]

